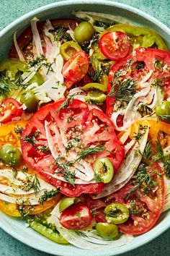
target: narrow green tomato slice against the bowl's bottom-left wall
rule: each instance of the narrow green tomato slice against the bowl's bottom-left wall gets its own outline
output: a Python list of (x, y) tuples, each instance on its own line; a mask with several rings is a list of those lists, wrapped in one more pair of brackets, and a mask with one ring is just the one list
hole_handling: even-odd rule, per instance
[(58, 244), (68, 244), (66, 239), (64, 239), (61, 234), (54, 232), (52, 229), (48, 229), (46, 226), (38, 222), (32, 221), (29, 223), (29, 225), (32, 229), (42, 234), (42, 236), (45, 236), (48, 239), (52, 240), (53, 242), (56, 242)]

